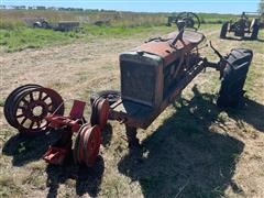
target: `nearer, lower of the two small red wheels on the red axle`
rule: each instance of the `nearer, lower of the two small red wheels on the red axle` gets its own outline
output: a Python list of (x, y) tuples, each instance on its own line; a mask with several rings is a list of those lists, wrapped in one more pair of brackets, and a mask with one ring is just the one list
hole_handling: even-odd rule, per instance
[(84, 124), (76, 138), (74, 160), (77, 164), (94, 166), (101, 144), (101, 129), (99, 125)]

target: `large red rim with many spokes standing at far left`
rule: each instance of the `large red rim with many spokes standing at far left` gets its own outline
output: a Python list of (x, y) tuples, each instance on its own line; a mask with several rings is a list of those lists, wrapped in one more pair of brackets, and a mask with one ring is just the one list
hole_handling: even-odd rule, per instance
[(28, 88), (13, 97), (12, 107), (9, 107), (7, 113), (11, 125), (21, 133), (37, 135), (47, 129), (47, 113), (63, 116), (64, 102), (53, 89)]

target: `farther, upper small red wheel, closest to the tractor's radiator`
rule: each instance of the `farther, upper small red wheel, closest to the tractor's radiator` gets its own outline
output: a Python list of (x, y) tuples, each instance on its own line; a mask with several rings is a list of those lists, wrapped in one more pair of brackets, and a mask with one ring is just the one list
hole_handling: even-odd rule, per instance
[(90, 118), (91, 125), (98, 124), (101, 130), (105, 129), (110, 110), (109, 101), (107, 99), (98, 98), (92, 103), (91, 110), (92, 110)]

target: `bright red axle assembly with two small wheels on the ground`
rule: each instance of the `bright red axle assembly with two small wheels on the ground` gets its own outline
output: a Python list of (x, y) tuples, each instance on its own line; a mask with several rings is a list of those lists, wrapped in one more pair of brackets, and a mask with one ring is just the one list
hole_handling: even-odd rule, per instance
[[(68, 117), (48, 114), (46, 120), (51, 128), (63, 128), (65, 135), (59, 140), (58, 145), (50, 146), (43, 158), (51, 164), (62, 164), (65, 156), (72, 148), (72, 136), (77, 132), (74, 146), (74, 161), (76, 164), (92, 166), (99, 153), (101, 144), (101, 129), (105, 128), (108, 114), (109, 102), (106, 99), (97, 99), (94, 102), (92, 119), (94, 123), (82, 124), (85, 102), (75, 100)], [(92, 120), (91, 119), (91, 120)]]

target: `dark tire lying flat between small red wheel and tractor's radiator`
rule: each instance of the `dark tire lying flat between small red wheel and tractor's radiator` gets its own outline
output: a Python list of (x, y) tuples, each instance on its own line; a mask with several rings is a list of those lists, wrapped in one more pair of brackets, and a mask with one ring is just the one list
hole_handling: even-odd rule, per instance
[(94, 92), (90, 96), (90, 105), (92, 106), (94, 101), (99, 97), (108, 99), (109, 106), (111, 106), (120, 99), (121, 94), (120, 91), (117, 91), (117, 90), (103, 90), (99, 92)]

